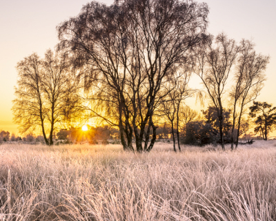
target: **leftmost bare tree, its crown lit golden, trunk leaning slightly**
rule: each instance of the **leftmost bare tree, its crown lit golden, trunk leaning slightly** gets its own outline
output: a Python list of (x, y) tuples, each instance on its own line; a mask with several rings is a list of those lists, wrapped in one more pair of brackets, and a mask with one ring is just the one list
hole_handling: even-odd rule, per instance
[(34, 131), (41, 127), (44, 140), (48, 145), (45, 131), (46, 107), (43, 102), (43, 86), (41, 85), (42, 64), (34, 53), (17, 64), (17, 87), (13, 100), (12, 112), (14, 123), (19, 125), (19, 132)]

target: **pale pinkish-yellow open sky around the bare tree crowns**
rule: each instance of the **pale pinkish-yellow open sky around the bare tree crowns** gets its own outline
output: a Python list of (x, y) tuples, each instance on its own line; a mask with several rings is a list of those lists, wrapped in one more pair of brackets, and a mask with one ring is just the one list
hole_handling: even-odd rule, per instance
[[(270, 55), (267, 81), (257, 100), (276, 105), (276, 0), (204, 2), (210, 8), (208, 32), (213, 35), (225, 32), (238, 42), (243, 38), (252, 39), (257, 52)], [(17, 133), (10, 111), (17, 84), (17, 62), (32, 52), (43, 57), (48, 48), (54, 48), (58, 43), (56, 26), (79, 14), (86, 3), (88, 0), (0, 1), (0, 130)], [(191, 85), (201, 87), (196, 77)], [(195, 106), (195, 101), (189, 104)], [(195, 107), (201, 108), (199, 104)]]

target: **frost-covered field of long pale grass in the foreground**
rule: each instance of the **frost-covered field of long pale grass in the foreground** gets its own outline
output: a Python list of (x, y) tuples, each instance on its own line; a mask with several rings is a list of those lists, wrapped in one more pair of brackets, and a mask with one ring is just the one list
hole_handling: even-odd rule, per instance
[(275, 144), (2, 144), (0, 220), (276, 220)]

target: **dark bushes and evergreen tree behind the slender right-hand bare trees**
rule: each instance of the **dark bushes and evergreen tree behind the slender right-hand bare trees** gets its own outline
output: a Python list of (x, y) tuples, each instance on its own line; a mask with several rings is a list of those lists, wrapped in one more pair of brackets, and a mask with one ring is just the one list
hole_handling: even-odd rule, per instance
[[(248, 111), (248, 115), (243, 115), (239, 119), (239, 129), (236, 127), (233, 131), (233, 109), (224, 110), (222, 126), (224, 143), (232, 144), (233, 137), (239, 142), (239, 137), (246, 137), (246, 134), (251, 133), (250, 128), (254, 128), (253, 137), (268, 140), (269, 133), (276, 129), (276, 107), (266, 102), (253, 102)], [(215, 106), (209, 106), (206, 111), (202, 111), (201, 116), (195, 113), (193, 120), (188, 123), (182, 120), (181, 126), (183, 128), (181, 141), (184, 144), (199, 146), (221, 144), (219, 117)]]

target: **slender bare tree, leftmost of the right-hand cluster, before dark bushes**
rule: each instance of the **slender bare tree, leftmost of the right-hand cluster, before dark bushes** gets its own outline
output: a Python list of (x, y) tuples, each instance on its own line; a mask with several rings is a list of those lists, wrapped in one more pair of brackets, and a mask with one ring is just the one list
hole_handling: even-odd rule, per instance
[(203, 81), (208, 97), (216, 108), (219, 119), (219, 134), (221, 148), (224, 150), (224, 107), (223, 96), (230, 70), (235, 63), (239, 47), (235, 40), (228, 39), (222, 33), (207, 42), (206, 47), (197, 52), (197, 75)]

